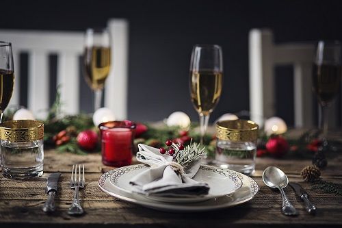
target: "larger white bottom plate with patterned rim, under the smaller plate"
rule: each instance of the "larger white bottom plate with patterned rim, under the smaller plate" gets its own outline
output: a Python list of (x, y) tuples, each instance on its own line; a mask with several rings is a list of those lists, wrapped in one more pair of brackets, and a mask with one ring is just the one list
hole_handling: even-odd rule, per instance
[[(144, 164), (129, 167), (136, 168), (137, 170), (141, 170), (144, 167), (147, 168), (147, 166), (145, 166)], [(211, 168), (212, 166), (204, 167)], [(129, 192), (119, 190), (118, 188), (114, 188), (114, 185), (110, 181), (111, 175), (113, 175), (114, 171), (116, 170), (111, 170), (107, 173), (104, 173), (98, 179), (98, 186), (101, 188), (101, 190), (118, 199), (136, 203), (144, 207), (150, 207), (155, 210), (177, 212), (200, 212), (208, 210), (218, 210), (250, 201), (250, 199), (252, 199), (259, 191), (259, 186), (252, 178), (232, 170), (225, 170), (226, 173), (234, 174), (242, 181), (241, 188), (239, 188), (235, 192), (223, 197), (213, 198), (197, 203), (160, 203), (158, 201), (147, 199), (140, 194), (131, 194)]]

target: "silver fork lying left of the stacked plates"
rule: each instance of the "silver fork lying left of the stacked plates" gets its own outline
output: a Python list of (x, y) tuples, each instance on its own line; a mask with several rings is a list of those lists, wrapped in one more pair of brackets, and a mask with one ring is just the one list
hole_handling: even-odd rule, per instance
[[(77, 169), (79, 170), (78, 179), (77, 179)], [(71, 173), (70, 180), (70, 188), (75, 188), (75, 196), (73, 199), (73, 204), (70, 206), (68, 210), (68, 214), (70, 215), (79, 215), (83, 214), (83, 208), (81, 207), (81, 203), (79, 203), (79, 188), (84, 188), (85, 179), (84, 179), (84, 165), (82, 166), (82, 177), (81, 177), (81, 165), (77, 164), (73, 165), (73, 171)]]

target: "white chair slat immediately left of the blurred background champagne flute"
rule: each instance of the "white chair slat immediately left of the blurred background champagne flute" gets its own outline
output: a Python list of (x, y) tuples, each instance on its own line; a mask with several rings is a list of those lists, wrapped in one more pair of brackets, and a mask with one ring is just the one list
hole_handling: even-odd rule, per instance
[(79, 112), (79, 58), (75, 52), (58, 54), (57, 85), (60, 85), (62, 111), (65, 114)]

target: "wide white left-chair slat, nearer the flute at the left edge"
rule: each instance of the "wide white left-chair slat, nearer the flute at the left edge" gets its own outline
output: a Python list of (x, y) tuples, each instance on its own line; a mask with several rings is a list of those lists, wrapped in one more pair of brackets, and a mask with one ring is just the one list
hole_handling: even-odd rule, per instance
[(48, 53), (29, 53), (28, 108), (36, 118), (46, 118), (49, 110)]

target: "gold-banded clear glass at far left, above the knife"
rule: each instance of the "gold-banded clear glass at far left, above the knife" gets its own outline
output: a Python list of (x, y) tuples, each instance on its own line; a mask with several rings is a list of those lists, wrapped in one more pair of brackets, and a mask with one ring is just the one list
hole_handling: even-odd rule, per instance
[(21, 120), (0, 124), (3, 177), (40, 177), (44, 161), (44, 123)]

